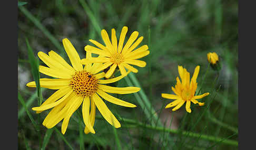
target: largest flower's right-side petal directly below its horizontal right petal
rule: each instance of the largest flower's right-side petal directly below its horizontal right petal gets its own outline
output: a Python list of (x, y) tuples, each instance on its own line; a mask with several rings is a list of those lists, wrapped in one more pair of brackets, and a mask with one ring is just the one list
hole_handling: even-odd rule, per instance
[(109, 101), (113, 104), (116, 104), (116, 105), (121, 105), (121, 106), (125, 106), (125, 107), (129, 107), (129, 108), (135, 108), (136, 105), (132, 104), (132, 103), (129, 103), (129, 102), (125, 102), (125, 101), (122, 101), (120, 99), (117, 99), (115, 97), (112, 97), (111, 95), (107, 94), (106, 92), (102, 91), (101, 89), (98, 89), (97, 90), (97, 93), (106, 101)]

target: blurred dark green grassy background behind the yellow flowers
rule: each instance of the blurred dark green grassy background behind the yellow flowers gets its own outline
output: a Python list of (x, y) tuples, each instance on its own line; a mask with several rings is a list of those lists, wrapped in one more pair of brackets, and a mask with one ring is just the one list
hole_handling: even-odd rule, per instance
[[(37, 96), (35, 88), (26, 87), (33, 77), (25, 38), (36, 58), (38, 51), (54, 50), (70, 62), (62, 46), (63, 38), (68, 38), (84, 58), (84, 46), (92, 45), (88, 39), (103, 44), (99, 31), (105, 29), (110, 35), (112, 28), (116, 29), (118, 39), (123, 26), (128, 27), (125, 41), (136, 30), (139, 37), (144, 37), (140, 46), (149, 46), (150, 55), (141, 59), (147, 66), (135, 67), (139, 72), (134, 75), (161, 123), (172, 130), (237, 141), (238, 1), (26, 1), (18, 7), (18, 92), (40, 131), (35, 130), (18, 102), (18, 149), (40, 149), (48, 133), (42, 125), (48, 111), (38, 116), (31, 110), (37, 106)], [(208, 52), (218, 53), (222, 66), (219, 72), (209, 66)], [(41, 60), (39, 62), (43, 65)], [(173, 93), (171, 87), (179, 76), (178, 65), (185, 67), (191, 76), (194, 68), (200, 65), (198, 90), (211, 92), (201, 100), (206, 105), (191, 105), (191, 114), (186, 113), (185, 106), (175, 112), (163, 109), (172, 100), (163, 99), (161, 93)], [(42, 73), (40, 76), (46, 77)], [(127, 87), (125, 79), (116, 85)], [(54, 92), (41, 90), (43, 101)], [(116, 116), (150, 123), (151, 118), (145, 116), (133, 94), (115, 97), (137, 105), (137, 108), (124, 108), (104, 101)], [(96, 115), (101, 116), (99, 111)], [(116, 130), (119, 143), (112, 126), (99, 117), (94, 125), (96, 134), (84, 134), (83, 138), (80, 124), (70, 120), (64, 137), (54, 129), (46, 149), (118, 149), (118, 143), (123, 149), (238, 149), (222, 142), (160, 132), (125, 122), (121, 125)], [(60, 131), (61, 123), (56, 128)]]

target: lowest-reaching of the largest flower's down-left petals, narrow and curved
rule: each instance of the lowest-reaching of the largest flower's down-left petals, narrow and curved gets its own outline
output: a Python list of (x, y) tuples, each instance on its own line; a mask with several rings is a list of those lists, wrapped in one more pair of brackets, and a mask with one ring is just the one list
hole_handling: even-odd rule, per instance
[(70, 121), (70, 117), (79, 108), (79, 106), (82, 104), (83, 97), (74, 97), (71, 101), (73, 101), (73, 103), (71, 104), (70, 108), (68, 108), (68, 110), (66, 112), (66, 115), (64, 117), (64, 120), (62, 122), (62, 125), (61, 125), (62, 134), (65, 134), (65, 132), (67, 130), (68, 122)]

